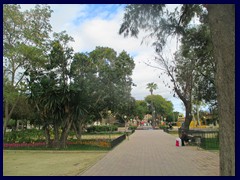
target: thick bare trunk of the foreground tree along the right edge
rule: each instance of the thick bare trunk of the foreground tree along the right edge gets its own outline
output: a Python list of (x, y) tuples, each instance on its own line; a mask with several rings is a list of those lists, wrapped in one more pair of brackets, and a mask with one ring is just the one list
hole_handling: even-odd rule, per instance
[(235, 175), (235, 5), (207, 5), (216, 61), (220, 175)]

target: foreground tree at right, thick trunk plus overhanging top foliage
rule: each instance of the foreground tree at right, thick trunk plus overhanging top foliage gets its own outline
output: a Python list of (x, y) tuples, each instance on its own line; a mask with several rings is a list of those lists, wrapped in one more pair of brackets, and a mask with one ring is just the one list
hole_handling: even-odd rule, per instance
[[(137, 37), (139, 30), (143, 29), (149, 32), (149, 37), (155, 38), (153, 45), (157, 52), (161, 52), (167, 38), (176, 34), (181, 37), (195, 15), (209, 18), (217, 69), (215, 81), (220, 115), (220, 172), (221, 175), (235, 175), (235, 6), (206, 5), (206, 11), (203, 5), (185, 4), (173, 13), (164, 11), (164, 7), (128, 5), (119, 33)], [(229, 71), (224, 69), (226, 66), (229, 66)], [(224, 137), (224, 134), (228, 136)]]

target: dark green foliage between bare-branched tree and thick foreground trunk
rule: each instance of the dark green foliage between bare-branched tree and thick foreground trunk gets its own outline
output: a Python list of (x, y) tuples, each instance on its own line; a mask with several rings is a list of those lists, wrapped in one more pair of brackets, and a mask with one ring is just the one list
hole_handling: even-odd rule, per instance
[(193, 87), (194, 99), (215, 104), (216, 65), (208, 25), (201, 24), (186, 30), (186, 35), (182, 38), (181, 55), (194, 60), (194, 82), (197, 82)]

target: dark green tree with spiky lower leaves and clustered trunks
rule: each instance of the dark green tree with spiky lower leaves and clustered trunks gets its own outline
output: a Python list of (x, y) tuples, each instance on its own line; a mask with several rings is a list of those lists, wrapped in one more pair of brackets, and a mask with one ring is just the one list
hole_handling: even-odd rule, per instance
[[(65, 32), (54, 33), (53, 37), (50, 52), (41, 69), (32, 66), (28, 71), (29, 99), (42, 120), (47, 146), (65, 148), (73, 114), (78, 108), (74, 104), (77, 90), (69, 85), (69, 66), (73, 50), (67, 44), (73, 39)], [(53, 142), (50, 139), (51, 127)]]

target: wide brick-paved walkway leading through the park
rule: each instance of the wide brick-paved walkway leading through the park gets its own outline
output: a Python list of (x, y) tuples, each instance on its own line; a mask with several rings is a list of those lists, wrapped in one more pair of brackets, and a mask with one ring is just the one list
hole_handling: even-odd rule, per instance
[(219, 176), (219, 154), (175, 146), (162, 130), (137, 130), (82, 176)]

